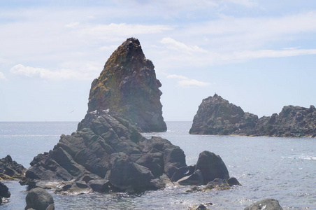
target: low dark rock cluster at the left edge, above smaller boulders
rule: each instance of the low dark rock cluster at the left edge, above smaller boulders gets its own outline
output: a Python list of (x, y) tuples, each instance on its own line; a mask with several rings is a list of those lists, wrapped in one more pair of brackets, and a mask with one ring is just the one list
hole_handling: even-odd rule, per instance
[(22, 179), (26, 171), (27, 169), (13, 161), (10, 155), (0, 159), (0, 179)]

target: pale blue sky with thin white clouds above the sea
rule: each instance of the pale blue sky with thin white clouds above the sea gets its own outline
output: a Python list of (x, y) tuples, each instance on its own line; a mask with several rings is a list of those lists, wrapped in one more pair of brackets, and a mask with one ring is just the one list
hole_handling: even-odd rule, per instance
[(0, 1), (0, 121), (80, 121), (127, 38), (161, 81), (166, 121), (217, 93), (261, 116), (316, 106), (316, 1)]

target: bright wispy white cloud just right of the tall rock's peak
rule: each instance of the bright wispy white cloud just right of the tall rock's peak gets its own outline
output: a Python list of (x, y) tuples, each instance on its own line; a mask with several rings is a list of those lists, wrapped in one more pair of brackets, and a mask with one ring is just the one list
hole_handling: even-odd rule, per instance
[(168, 49), (178, 50), (182, 52), (208, 52), (207, 50), (204, 50), (202, 48), (199, 48), (199, 46), (196, 45), (186, 45), (185, 43), (182, 43), (180, 41), (175, 41), (173, 38), (166, 37), (162, 38), (160, 43), (163, 43), (166, 45)]

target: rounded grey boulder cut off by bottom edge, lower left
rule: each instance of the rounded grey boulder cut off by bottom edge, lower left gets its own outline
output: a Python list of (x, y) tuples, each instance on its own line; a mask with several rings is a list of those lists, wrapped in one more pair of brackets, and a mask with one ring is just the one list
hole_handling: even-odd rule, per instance
[(36, 210), (54, 210), (55, 204), (52, 195), (48, 193), (43, 188), (34, 188), (29, 190), (27, 197), (25, 198), (27, 202), (27, 209), (36, 209)]

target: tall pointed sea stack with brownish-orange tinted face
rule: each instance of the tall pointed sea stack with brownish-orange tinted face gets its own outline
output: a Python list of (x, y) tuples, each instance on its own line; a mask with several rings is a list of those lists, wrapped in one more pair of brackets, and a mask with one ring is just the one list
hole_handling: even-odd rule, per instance
[(111, 115), (134, 123), (142, 132), (164, 132), (161, 83), (154, 64), (145, 58), (136, 38), (127, 38), (92, 82), (88, 112), (109, 109)]

